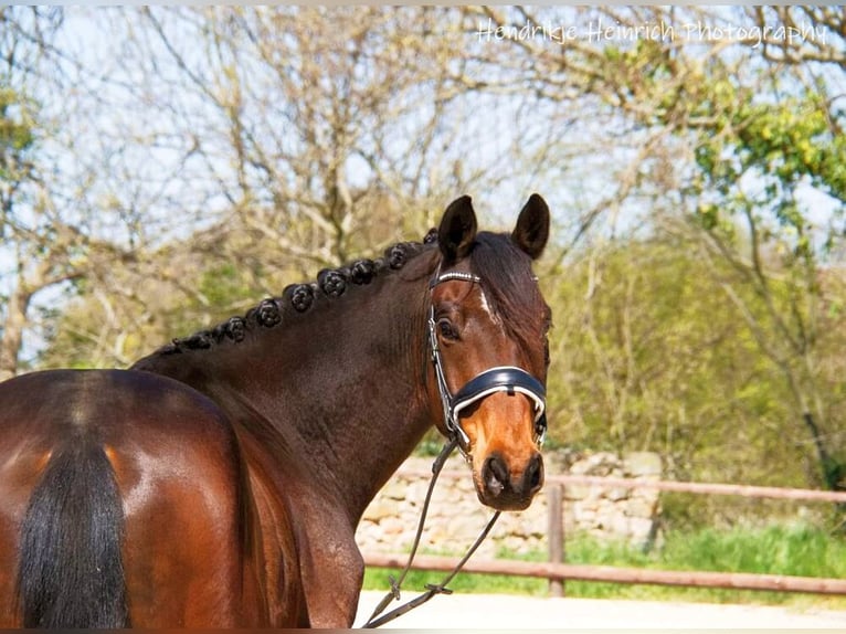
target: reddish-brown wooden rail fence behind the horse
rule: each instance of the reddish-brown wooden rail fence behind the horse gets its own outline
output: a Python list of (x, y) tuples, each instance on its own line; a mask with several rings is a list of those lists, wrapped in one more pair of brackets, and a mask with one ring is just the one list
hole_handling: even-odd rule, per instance
[[(421, 474), (424, 475), (424, 474)], [(443, 478), (466, 477), (462, 472), (444, 472)], [(770, 590), (781, 592), (805, 592), (815, 594), (846, 594), (846, 580), (778, 574), (728, 573), (705, 571), (646, 570), (607, 566), (581, 566), (563, 563), (564, 542), (562, 504), (564, 487), (568, 485), (591, 485), (600, 487), (654, 488), (658, 490), (708, 495), (731, 495), (753, 498), (846, 503), (846, 493), (808, 490), (795, 488), (760, 487), (748, 485), (681, 483), (667, 480), (643, 480), (616, 477), (583, 475), (554, 475), (547, 478), (548, 540), (550, 561), (527, 562), (509, 560), (473, 560), (464, 567), (466, 572), (535, 577), (550, 582), (550, 593), (563, 594), (565, 580), (604, 581), (613, 583), (643, 583), (657, 585), (681, 585), (698, 588), (728, 588), (734, 590)], [(368, 566), (400, 568), (406, 556), (364, 552)], [(414, 562), (417, 570), (452, 570), (457, 558), (419, 556)]]

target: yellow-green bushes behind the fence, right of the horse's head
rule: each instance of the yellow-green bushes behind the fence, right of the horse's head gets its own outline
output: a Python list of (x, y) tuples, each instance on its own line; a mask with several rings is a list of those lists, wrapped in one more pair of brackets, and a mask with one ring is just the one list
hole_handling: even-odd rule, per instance
[[(621, 240), (541, 275), (554, 320), (550, 443), (655, 451), (668, 478), (819, 486), (783, 370), (762, 353), (758, 337), (783, 337), (768, 317), (771, 308), (815, 325), (814, 380), (829, 403), (828, 429), (843, 429), (842, 275), (821, 276), (821, 304), (805, 304), (796, 300), (804, 282), (778, 267), (764, 297), (730, 263), (708, 263), (699, 253), (692, 239)], [(760, 332), (723, 285), (759, 319)], [(842, 440), (829, 435), (827, 442), (840, 455)], [(679, 510), (677, 517), (694, 525), (732, 513), (710, 499)]]

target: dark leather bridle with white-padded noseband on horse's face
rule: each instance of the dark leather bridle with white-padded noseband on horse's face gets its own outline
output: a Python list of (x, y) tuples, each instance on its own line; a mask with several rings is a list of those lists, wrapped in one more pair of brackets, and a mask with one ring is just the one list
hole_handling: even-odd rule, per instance
[[(458, 271), (444, 274), (436, 273), (429, 283), (430, 294), (442, 282), (453, 279), (472, 284), (482, 282), (480, 277), (472, 273)], [(429, 310), (429, 345), (432, 349), (432, 362), (435, 367), (437, 391), (441, 394), (441, 403), (444, 409), (446, 430), (451, 438), (457, 438), (462, 453), (466, 456), (469, 451), (469, 436), (467, 436), (459, 421), (462, 410), (497, 392), (506, 392), (510, 395), (520, 393), (531, 400), (535, 405), (535, 442), (539, 446), (542, 445), (547, 435), (547, 390), (543, 383), (522, 368), (499, 366), (479, 372), (453, 394), (450, 392), (450, 387), (446, 383), (444, 361), (441, 357), (441, 347), (437, 344), (435, 326), (435, 305), (434, 300), (432, 300), (430, 302)]]

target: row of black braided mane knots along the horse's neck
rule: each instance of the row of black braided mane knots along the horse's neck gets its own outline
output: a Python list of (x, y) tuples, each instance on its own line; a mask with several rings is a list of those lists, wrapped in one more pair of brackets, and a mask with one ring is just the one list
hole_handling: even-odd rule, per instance
[(250, 308), (244, 316), (230, 317), (213, 328), (198, 330), (188, 337), (172, 339), (159, 348), (158, 355), (175, 355), (186, 350), (204, 350), (225, 341), (240, 342), (250, 329), (273, 328), (283, 320), (288, 309), (307, 313), (319, 297), (334, 299), (345, 295), (350, 287), (366, 286), (378, 276), (399, 271), (423, 252), (424, 246), (437, 241), (437, 232), (429, 232), (423, 242), (400, 242), (384, 251), (382, 257), (362, 258), (340, 266), (324, 268), (315, 282), (290, 284), (278, 297), (267, 297)]

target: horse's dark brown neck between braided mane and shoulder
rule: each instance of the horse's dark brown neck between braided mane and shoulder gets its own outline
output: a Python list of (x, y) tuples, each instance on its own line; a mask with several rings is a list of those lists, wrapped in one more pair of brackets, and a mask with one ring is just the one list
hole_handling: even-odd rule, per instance
[(387, 275), (248, 341), (138, 367), (210, 395), (357, 521), (431, 423), (425, 284)]

